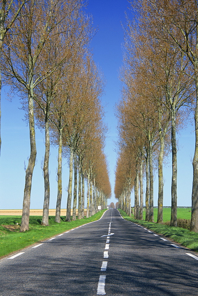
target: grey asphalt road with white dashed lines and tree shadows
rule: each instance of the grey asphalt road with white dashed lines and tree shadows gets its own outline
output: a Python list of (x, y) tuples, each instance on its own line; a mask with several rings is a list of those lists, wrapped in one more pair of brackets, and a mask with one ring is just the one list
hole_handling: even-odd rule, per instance
[(198, 255), (107, 210), (0, 260), (0, 296), (195, 296)]

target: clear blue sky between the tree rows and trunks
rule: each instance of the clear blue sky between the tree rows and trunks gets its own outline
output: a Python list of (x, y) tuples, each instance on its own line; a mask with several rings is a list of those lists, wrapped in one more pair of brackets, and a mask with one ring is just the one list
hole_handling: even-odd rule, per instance
[[(105, 153), (109, 162), (112, 198), (108, 202), (116, 202), (114, 198), (114, 170), (116, 152), (114, 141), (117, 140), (117, 120), (114, 116), (115, 104), (120, 99), (120, 81), (118, 71), (122, 65), (123, 28), (125, 11), (128, 10), (127, 0), (89, 0), (86, 13), (93, 16), (93, 26), (98, 32), (91, 41), (94, 60), (102, 69), (107, 81), (102, 103), (106, 112), (105, 121), (109, 127)], [(28, 126), (25, 123), (24, 111), (17, 96), (12, 102), (6, 100), (8, 88), (2, 91), (1, 101), (1, 157), (0, 157), (0, 209), (21, 209), (25, 185), (24, 162), (27, 166), (27, 157), (30, 154)], [(187, 128), (178, 135), (178, 206), (191, 206), (192, 164), (194, 155), (194, 127)], [(191, 132), (192, 131), (192, 132)], [(44, 157), (44, 133), (36, 129), (37, 164), (33, 173), (30, 208), (40, 209), (44, 201), (44, 181), (41, 169), (41, 160)], [(57, 147), (51, 147), (50, 152), (50, 208), (56, 207), (57, 199)], [(154, 206), (157, 206), (157, 172), (154, 181)], [(63, 160), (63, 196), (62, 208), (67, 204), (68, 165)], [(171, 205), (171, 157), (164, 168), (164, 205)], [(134, 204), (133, 193), (131, 205)], [(145, 192), (144, 192), (145, 195)], [(144, 196), (145, 199), (145, 196)], [(145, 202), (144, 202), (145, 204)]]

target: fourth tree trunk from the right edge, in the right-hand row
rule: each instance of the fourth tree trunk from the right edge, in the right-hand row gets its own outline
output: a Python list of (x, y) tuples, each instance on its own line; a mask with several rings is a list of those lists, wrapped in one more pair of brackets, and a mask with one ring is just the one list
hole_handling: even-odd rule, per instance
[(154, 222), (153, 215), (153, 157), (152, 157), (152, 140), (149, 141), (149, 180), (150, 180), (150, 191), (149, 191), (149, 222)]

